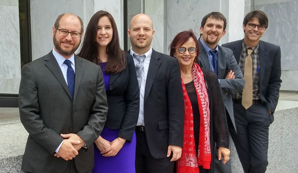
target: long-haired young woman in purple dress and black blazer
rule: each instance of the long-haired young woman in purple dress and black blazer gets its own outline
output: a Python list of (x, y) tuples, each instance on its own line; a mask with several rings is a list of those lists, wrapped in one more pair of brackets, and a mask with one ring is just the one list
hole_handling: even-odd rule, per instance
[(94, 142), (92, 172), (135, 173), (139, 86), (133, 57), (121, 50), (110, 13), (100, 10), (91, 17), (78, 56), (101, 66), (109, 106), (105, 128)]

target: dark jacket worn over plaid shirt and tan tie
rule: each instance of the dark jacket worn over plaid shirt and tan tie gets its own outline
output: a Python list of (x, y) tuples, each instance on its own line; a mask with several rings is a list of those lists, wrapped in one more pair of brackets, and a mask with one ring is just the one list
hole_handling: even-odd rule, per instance
[[(243, 40), (223, 44), (224, 47), (232, 49), (239, 63)], [(259, 87), (262, 103), (272, 113), (275, 111), (281, 87), (281, 48), (278, 45), (260, 41), (259, 42), (260, 70)], [(273, 121), (273, 120), (272, 120)], [(272, 123), (272, 122), (271, 122)]]

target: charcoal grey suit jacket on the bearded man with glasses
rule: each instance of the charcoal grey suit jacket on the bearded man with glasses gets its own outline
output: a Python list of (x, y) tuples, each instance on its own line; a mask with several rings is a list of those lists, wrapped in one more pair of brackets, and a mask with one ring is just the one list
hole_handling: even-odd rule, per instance
[(61, 133), (76, 133), (87, 144), (74, 158), (78, 172), (94, 166), (93, 142), (100, 135), (107, 114), (101, 69), (74, 55), (74, 99), (52, 51), (23, 66), (19, 87), (20, 120), (28, 131), (22, 170), (62, 173), (69, 162), (54, 156), (63, 141)]

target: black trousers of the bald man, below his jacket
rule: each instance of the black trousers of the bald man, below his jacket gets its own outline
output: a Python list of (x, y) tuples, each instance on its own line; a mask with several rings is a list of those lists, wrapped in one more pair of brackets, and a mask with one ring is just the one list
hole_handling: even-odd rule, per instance
[(145, 131), (137, 131), (136, 173), (173, 173), (174, 162), (169, 158), (155, 159), (150, 154)]

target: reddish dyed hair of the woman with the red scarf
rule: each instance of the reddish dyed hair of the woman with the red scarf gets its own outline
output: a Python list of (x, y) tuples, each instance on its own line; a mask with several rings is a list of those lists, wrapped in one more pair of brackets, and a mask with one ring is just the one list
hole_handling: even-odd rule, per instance
[(197, 37), (195, 36), (195, 34), (192, 30), (182, 31), (174, 37), (172, 43), (170, 43), (170, 45), (169, 45), (170, 56), (174, 57), (176, 48), (178, 48), (182, 44), (186, 43), (189, 40), (189, 38), (192, 38), (196, 43), (197, 55), (195, 57), (195, 62), (197, 62), (198, 56), (200, 54), (200, 45), (199, 45)]

